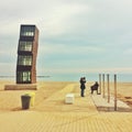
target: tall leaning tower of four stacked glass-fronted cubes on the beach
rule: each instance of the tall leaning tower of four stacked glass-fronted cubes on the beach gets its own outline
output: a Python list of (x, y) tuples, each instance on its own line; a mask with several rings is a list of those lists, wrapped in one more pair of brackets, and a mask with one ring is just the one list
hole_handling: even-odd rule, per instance
[(38, 30), (35, 25), (21, 25), (18, 46), (16, 84), (36, 82)]

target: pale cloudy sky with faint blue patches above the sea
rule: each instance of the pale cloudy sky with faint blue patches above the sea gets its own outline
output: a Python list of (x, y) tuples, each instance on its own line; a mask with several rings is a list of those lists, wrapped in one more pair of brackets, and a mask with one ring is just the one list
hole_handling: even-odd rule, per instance
[(37, 75), (132, 73), (132, 0), (3, 0), (0, 75), (15, 75), (21, 24), (40, 30)]

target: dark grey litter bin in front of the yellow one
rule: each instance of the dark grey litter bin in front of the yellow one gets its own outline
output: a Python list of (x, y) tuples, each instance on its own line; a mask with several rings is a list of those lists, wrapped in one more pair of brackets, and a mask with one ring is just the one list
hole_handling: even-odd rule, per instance
[(22, 109), (29, 109), (30, 108), (30, 100), (31, 100), (30, 96), (28, 96), (28, 95), (21, 96)]

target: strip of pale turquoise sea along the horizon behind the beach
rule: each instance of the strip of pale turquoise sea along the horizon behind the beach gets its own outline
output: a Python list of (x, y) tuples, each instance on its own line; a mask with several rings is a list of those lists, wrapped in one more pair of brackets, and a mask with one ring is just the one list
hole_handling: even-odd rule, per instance
[[(38, 75), (36, 76), (37, 81), (79, 81), (80, 77), (86, 77), (87, 81), (99, 81), (99, 75), (102, 79), (105, 75), (105, 80), (109, 75), (109, 81), (114, 80), (114, 75), (117, 76), (117, 81), (120, 82), (132, 82), (132, 74), (52, 74), (52, 75)], [(0, 76), (0, 80), (14, 80), (15, 76)]]

